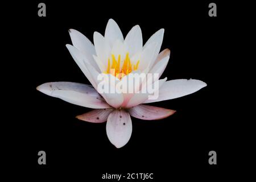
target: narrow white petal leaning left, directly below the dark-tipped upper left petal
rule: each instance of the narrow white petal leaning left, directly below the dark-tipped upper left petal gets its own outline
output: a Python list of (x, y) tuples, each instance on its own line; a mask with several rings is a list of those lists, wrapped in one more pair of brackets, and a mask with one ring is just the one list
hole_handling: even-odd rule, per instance
[(88, 78), (90, 83), (94, 86), (94, 88), (97, 88), (97, 83), (93, 80), (90, 72), (88, 72), (88, 69), (85, 66), (85, 63), (89, 63), (89, 61), (86, 60), (85, 56), (82, 55), (82, 53), (74, 46), (67, 44), (66, 47), (68, 48), (69, 53), (71, 53), (71, 56), (76, 61), (76, 64), (79, 66), (84, 75)]

